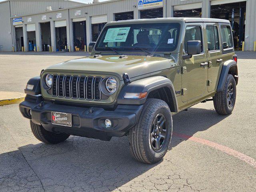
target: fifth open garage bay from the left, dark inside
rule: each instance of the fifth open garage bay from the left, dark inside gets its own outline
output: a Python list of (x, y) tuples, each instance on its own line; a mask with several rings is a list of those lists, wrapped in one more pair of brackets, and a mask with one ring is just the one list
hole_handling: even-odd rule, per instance
[(74, 51), (84, 51), (86, 45), (86, 18), (73, 19)]

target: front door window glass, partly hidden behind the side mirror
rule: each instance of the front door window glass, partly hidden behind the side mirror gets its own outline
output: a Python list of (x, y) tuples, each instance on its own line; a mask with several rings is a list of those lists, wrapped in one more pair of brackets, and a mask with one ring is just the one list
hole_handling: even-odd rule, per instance
[[(202, 42), (202, 30), (200, 26), (187, 26), (184, 38), (184, 51), (187, 53), (188, 41), (201, 41)], [(201, 52), (203, 52), (201, 46)]]

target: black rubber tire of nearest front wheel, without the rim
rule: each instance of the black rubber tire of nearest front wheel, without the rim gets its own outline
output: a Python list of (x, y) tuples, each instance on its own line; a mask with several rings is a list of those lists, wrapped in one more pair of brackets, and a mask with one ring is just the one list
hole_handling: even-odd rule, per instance
[[(161, 150), (156, 152), (150, 143), (150, 130), (158, 114), (163, 114), (166, 118), (168, 131)], [(128, 138), (130, 152), (136, 160), (147, 164), (159, 162), (168, 151), (172, 139), (172, 113), (168, 104), (160, 99), (147, 99), (138, 123), (129, 131)]]

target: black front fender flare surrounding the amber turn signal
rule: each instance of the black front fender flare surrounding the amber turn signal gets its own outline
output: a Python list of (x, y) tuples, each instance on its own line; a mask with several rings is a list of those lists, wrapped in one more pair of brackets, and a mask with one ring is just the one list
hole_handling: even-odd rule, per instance
[(148, 92), (149, 94), (153, 90), (157, 90), (159, 88), (168, 88), (170, 90), (173, 109), (174, 109), (174, 111), (172, 112), (178, 112), (178, 102), (177, 102), (172, 81), (163, 76), (154, 76), (154, 77), (144, 78), (144, 79), (136, 80), (134, 82), (131, 82), (130, 84), (125, 85), (120, 91), (120, 94), (118, 95), (117, 103), (130, 104), (130, 105), (142, 105), (146, 102), (147, 97), (143, 99), (126, 99), (124, 98), (124, 94), (126, 92), (129, 92), (129, 93)]

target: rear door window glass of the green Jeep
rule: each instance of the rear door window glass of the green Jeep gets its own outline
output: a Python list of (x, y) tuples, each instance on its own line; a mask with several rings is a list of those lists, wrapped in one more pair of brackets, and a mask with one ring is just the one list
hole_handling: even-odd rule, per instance
[(218, 29), (216, 26), (206, 26), (207, 45), (209, 51), (219, 50)]

